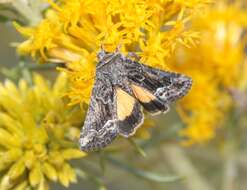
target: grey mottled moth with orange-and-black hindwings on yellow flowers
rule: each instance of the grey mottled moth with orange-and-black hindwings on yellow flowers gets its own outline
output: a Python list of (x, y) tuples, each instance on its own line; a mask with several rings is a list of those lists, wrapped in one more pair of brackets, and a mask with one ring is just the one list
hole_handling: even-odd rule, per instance
[(119, 50), (97, 55), (96, 77), (80, 135), (80, 149), (99, 150), (118, 135), (130, 137), (143, 123), (142, 108), (151, 114), (167, 112), (185, 96), (192, 79), (139, 63)]

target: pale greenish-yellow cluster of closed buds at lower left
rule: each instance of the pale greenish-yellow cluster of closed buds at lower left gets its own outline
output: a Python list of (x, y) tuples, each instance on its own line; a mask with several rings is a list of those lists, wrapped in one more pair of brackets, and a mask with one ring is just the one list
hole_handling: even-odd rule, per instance
[(76, 182), (69, 160), (86, 154), (77, 148), (83, 113), (62, 98), (67, 77), (53, 86), (40, 75), (33, 86), (20, 80), (0, 84), (0, 189), (49, 189), (48, 181)]

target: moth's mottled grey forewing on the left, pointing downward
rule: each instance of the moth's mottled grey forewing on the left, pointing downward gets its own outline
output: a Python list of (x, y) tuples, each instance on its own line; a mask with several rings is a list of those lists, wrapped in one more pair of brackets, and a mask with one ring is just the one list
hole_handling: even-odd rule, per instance
[(96, 78), (80, 135), (81, 150), (103, 148), (118, 135), (115, 101), (115, 90), (110, 81)]

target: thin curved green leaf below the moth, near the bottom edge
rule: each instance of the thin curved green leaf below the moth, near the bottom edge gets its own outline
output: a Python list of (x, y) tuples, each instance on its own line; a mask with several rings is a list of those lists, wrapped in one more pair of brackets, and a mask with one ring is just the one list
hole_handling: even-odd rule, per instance
[(183, 177), (181, 176), (163, 176), (161, 174), (157, 174), (154, 172), (147, 172), (144, 170), (140, 170), (109, 156), (107, 157), (107, 160), (114, 166), (117, 166), (118, 168), (121, 168), (135, 175), (136, 177), (143, 178), (146, 180), (160, 182), (160, 183), (171, 183), (183, 179)]

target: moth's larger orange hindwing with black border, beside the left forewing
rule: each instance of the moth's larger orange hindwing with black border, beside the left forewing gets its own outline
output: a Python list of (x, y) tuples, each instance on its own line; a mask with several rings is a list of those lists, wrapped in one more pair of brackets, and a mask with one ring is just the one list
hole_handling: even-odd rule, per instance
[(135, 134), (143, 123), (143, 113), (139, 102), (120, 88), (116, 88), (117, 118), (119, 133), (124, 137)]

